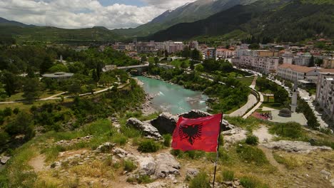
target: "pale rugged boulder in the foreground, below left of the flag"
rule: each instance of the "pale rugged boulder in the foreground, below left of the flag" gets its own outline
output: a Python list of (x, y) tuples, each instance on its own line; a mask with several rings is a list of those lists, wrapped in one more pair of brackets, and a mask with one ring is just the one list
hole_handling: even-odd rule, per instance
[(156, 156), (156, 177), (165, 178), (168, 177), (169, 174), (180, 174), (178, 169), (181, 168), (180, 163), (176, 161), (173, 155), (169, 153), (161, 153)]

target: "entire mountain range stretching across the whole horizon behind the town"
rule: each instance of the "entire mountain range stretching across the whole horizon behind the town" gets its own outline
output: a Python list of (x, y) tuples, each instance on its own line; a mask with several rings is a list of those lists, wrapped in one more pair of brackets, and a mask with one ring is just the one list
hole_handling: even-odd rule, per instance
[[(333, 0), (198, 0), (166, 11), (137, 28), (64, 29), (0, 18), (0, 36), (18, 41), (168, 41), (196, 37), (255, 36), (262, 41), (334, 38)], [(228, 38), (227, 37), (227, 38)], [(226, 39), (226, 37), (224, 37)]]

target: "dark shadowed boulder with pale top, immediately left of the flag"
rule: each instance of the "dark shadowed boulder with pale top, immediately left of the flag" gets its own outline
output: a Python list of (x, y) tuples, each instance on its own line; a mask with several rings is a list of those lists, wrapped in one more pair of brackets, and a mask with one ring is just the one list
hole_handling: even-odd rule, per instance
[(178, 117), (170, 113), (162, 113), (156, 119), (151, 120), (151, 124), (164, 134), (173, 134)]

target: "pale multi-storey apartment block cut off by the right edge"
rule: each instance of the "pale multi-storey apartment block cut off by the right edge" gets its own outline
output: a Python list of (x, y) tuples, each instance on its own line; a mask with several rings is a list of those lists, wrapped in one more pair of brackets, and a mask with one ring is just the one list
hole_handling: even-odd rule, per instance
[(318, 101), (328, 117), (334, 120), (334, 71), (332, 73), (320, 73), (315, 100)]

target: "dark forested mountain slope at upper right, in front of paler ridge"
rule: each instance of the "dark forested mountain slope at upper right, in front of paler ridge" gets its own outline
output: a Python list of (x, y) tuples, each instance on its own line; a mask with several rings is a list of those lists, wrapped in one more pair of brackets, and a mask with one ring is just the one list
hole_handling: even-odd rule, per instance
[(320, 33), (330, 37), (334, 33), (333, 9), (330, 1), (262, 0), (247, 6), (234, 6), (201, 21), (179, 23), (147, 39), (184, 40), (235, 30), (278, 41), (300, 41)]

